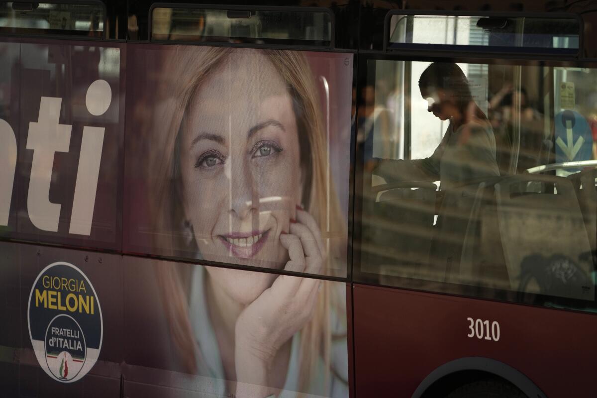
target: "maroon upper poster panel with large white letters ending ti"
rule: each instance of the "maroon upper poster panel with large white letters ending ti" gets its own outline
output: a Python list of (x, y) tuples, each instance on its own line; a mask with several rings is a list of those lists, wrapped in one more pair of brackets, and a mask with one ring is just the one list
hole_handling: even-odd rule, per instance
[(0, 236), (120, 249), (125, 47), (0, 42)]

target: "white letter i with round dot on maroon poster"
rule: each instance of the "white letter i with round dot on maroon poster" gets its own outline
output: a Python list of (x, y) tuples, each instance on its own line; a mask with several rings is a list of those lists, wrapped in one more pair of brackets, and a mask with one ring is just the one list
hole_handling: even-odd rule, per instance
[[(105, 80), (96, 80), (87, 89), (85, 106), (91, 115), (103, 115), (112, 102), (112, 90)], [(101, 152), (104, 144), (103, 127), (83, 128), (79, 169), (76, 173), (75, 199), (70, 215), (69, 233), (91, 235), (93, 209), (96, 204), (97, 181), (100, 176)]]

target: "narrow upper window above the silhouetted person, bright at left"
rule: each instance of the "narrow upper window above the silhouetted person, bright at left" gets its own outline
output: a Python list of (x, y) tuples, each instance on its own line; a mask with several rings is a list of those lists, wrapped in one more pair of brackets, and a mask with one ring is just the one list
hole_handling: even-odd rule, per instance
[[(437, 34), (442, 32), (444, 34)], [(404, 45), (450, 45), (473, 51), (492, 47), (512, 53), (568, 50), (576, 54), (580, 23), (574, 17), (478, 17), (445, 15), (392, 15), (389, 48)]]

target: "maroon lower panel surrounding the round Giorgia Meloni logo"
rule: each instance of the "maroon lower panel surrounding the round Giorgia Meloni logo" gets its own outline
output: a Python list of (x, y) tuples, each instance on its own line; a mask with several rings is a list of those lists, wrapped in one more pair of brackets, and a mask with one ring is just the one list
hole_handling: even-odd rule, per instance
[[(42, 369), (29, 332), (33, 283), (42, 270), (59, 261), (72, 264), (88, 278), (103, 325), (97, 362), (74, 382), (58, 381)], [(123, 351), (121, 257), (0, 242), (0, 277), (0, 397), (118, 397)], [(62, 313), (76, 317), (68, 311)]]

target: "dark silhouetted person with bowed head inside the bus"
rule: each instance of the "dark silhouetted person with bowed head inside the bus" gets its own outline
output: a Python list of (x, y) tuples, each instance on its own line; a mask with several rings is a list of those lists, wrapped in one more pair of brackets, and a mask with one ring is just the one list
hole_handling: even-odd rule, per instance
[(450, 121), (433, 155), (425, 159), (377, 159), (373, 174), (393, 181), (441, 181), (451, 189), (500, 175), (496, 139), (490, 121), (473, 100), (469, 84), (455, 63), (435, 62), (421, 74), (418, 87), (427, 110)]

